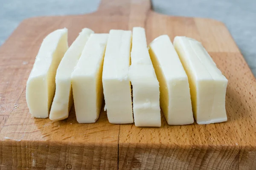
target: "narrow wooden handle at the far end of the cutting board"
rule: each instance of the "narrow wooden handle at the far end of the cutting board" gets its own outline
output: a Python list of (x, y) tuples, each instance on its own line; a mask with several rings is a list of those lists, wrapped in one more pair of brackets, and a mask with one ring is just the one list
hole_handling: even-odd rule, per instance
[(102, 0), (98, 12), (106, 15), (146, 14), (151, 10), (151, 0)]

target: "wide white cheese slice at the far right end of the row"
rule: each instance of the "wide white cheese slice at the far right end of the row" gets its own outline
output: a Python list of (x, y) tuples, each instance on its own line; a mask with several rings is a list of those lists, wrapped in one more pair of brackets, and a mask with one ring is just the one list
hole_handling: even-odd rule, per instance
[(189, 77), (192, 108), (198, 124), (227, 121), (227, 79), (200, 42), (175, 37), (175, 49)]

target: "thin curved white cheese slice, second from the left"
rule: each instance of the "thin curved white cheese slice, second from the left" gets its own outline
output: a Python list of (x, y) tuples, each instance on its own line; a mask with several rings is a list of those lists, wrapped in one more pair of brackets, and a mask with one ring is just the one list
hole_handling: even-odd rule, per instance
[(55, 77), (56, 91), (49, 115), (51, 120), (62, 120), (68, 117), (70, 108), (73, 105), (71, 74), (81, 56), (85, 43), (92, 33), (94, 32), (89, 28), (84, 28), (64, 54), (58, 66)]

